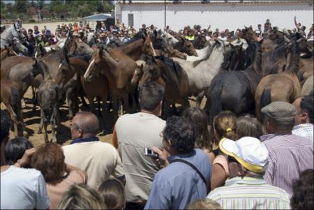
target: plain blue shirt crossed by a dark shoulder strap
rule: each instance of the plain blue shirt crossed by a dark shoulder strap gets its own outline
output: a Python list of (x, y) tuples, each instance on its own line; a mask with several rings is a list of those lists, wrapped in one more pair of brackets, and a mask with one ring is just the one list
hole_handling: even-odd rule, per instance
[[(185, 163), (171, 163), (174, 159), (184, 159), (197, 167), (207, 180), (207, 186), (195, 170)], [(145, 209), (185, 209), (196, 199), (207, 196), (211, 179), (209, 157), (201, 149), (194, 149), (188, 155), (171, 156), (170, 165), (160, 170), (154, 177), (153, 186)]]

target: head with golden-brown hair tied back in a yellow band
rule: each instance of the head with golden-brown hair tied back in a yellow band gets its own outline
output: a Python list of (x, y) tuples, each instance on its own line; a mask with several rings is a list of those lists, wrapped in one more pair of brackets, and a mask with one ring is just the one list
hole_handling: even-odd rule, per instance
[(214, 135), (217, 141), (223, 137), (236, 140), (236, 118), (230, 111), (220, 112), (213, 120)]

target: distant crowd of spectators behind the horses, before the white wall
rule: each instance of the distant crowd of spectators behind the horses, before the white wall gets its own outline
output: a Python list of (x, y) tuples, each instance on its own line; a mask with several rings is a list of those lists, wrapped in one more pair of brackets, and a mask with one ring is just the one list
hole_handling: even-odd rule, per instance
[[(299, 31), (304, 37), (306, 37), (309, 40), (313, 40), (314, 33), (313, 33), (313, 25), (308, 30), (308, 33), (306, 34), (306, 27), (301, 25), (301, 23), (295, 23), (295, 28), (292, 29), (293, 32)], [(146, 24), (142, 24), (142, 28), (135, 29), (133, 27), (133, 24), (130, 24), (129, 27), (126, 27), (124, 23), (120, 23), (119, 20), (117, 20), (117, 23), (107, 27), (105, 22), (98, 21), (96, 24), (95, 29), (92, 27), (89, 27), (89, 24), (87, 22), (75, 22), (74, 24), (62, 24), (61, 26), (58, 25), (57, 29), (52, 32), (51, 29), (47, 29), (46, 26), (43, 27), (39, 31), (38, 26), (34, 26), (33, 29), (24, 29), (22, 27), (22, 21), (20, 19), (17, 20), (15, 23), (15, 28), (19, 29), (27, 38), (28, 41), (28, 48), (30, 52), (33, 52), (33, 47), (38, 45), (44, 45), (44, 46), (50, 46), (50, 45), (57, 45), (61, 40), (65, 39), (68, 32), (71, 31), (74, 36), (80, 36), (82, 40), (87, 39), (87, 33), (94, 33), (96, 36), (96, 42), (102, 43), (104, 45), (108, 45), (111, 41), (119, 40), (121, 43), (128, 43), (128, 41), (133, 38), (135, 33), (138, 31), (146, 31), (147, 33), (151, 33), (155, 29), (158, 29), (157, 27), (154, 27), (154, 24), (151, 24), (150, 27), (147, 27)], [(262, 39), (264, 36), (267, 36), (268, 31), (273, 29), (271, 27), (271, 22), (269, 19), (266, 20), (264, 23), (264, 29), (262, 29), (262, 24), (257, 24), (257, 28), (255, 29), (255, 33), (257, 35), (257, 40)], [(241, 29), (236, 29), (235, 31), (230, 31), (229, 29), (220, 30), (215, 29), (214, 31), (211, 29), (211, 26), (207, 29), (202, 29), (200, 25), (194, 25), (194, 27), (184, 27), (184, 29), (181, 29), (179, 31), (172, 31), (169, 26), (165, 27), (164, 29), (168, 33), (170, 33), (175, 38), (184, 37), (187, 40), (193, 41), (198, 36), (203, 36), (207, 40), (210, 40), (212, 38), (219, 38), (220, 40), (227, 40), (230, 38), (234, 38), (234, 36), (237, 36)]]

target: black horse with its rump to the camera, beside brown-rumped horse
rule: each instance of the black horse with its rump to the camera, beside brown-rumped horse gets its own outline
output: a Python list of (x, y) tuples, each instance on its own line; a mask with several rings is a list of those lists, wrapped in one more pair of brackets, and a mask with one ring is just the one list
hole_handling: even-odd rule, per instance
[[(214, 77), (207, 89), (206, 109), (209, 113), (209, 123), (223, 110), (230, 110), (234, 114), (255, 112), (255, 91), (262, 79), (260, 43), (251, 43), (255, 47), (253, 63), (246, 70), (229, 71), (230, 59), (237, 57), (230, 50), (231, 57), (225, 57), (221, 65), (223, 70)], [(254, 48), (253, 47), (253, 48)], [(234, 59), (237, 61), (237, 59)]]

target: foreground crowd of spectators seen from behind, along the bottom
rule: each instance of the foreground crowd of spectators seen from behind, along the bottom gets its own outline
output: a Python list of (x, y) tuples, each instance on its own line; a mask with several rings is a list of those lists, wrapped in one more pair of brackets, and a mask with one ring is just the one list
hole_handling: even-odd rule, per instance
[(112, 144), (78, 112), (70, 145), (34, 148), (1, 110), (1, 209), (313, 209), (313, 94), (270, 103), (262, 123), (220, 112), (211, 133), (199, 107), (160, 119), (164, 91), (140, 87)]

